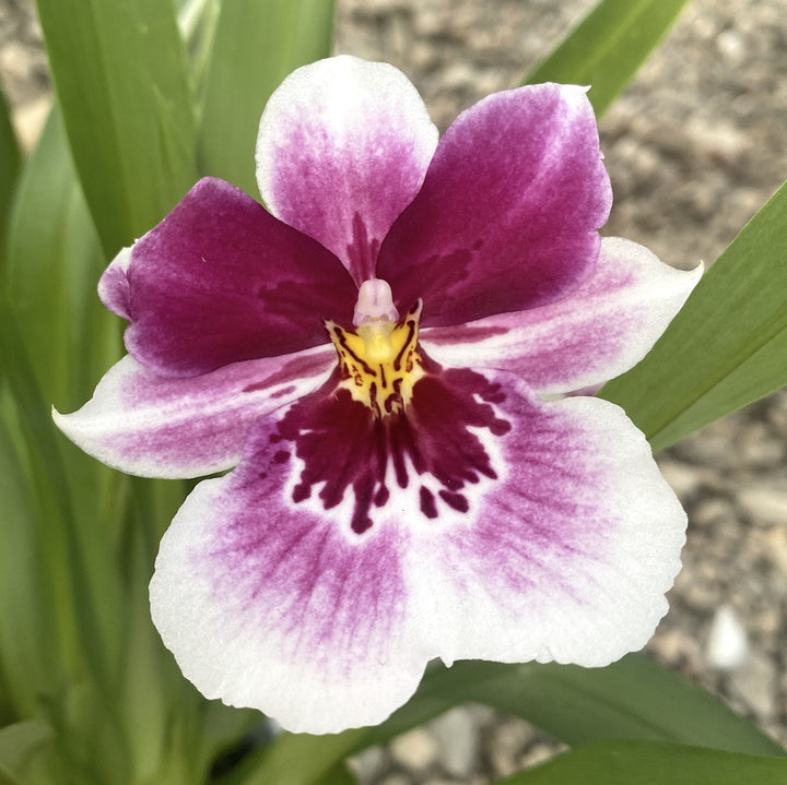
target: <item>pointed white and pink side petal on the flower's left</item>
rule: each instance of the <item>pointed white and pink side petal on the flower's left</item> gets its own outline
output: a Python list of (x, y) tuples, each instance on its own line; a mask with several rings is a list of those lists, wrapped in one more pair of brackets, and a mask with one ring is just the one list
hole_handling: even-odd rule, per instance
[(122, 472), (199, 477), (234, 466), (251, 423), (309, 392), (334, 365), (333, 349), (319, 347), (167, 379), (127, 355), (81, 409), (54, 417), (82, 450)]

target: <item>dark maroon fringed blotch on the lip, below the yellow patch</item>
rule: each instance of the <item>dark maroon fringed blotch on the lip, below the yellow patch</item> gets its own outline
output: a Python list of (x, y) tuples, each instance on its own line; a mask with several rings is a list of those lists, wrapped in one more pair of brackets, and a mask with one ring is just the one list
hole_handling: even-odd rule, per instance
[(437, 497), (420, 488), (425, 519), (437, 518), (441, 503), (458, 512), (469, 510), (461, 492), (466, 484), (478, 483), (480, 476), (496, 478), (483, 442), (471, 428), (484, 428), (496, 437), (508, 432), (510, 424), (490, 405), (504, 401), (505, 394), (500, 384), (474, 371), (443, 369), (431, 360), (425, 367), (410, 404), (398, 414), (376, 417), (349, 390), (338, 386), (338, 373), (293, 405), (271, 437), (272, 442), (293, 442), (304, 462), (293, 501), (308, 499), (321, 485), (318, 497), (328, 510), (351, 490), (351, 528), (362, 534), (372, 526), (373, 508), (389, 499), (390, 464), (401, 488), (410, 485), (413, 469), (418, 475), (431, 474), (443, 486)]

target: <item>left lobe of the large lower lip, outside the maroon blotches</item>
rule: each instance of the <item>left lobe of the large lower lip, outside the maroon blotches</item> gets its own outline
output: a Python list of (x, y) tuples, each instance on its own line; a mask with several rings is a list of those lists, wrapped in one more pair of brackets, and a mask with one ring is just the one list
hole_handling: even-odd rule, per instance
[(296, 733), (379, 723), (428, 658), (404, 604), (406, 533), (349, 538), (287, 503), (291, 464), (270, 435), (257, 431), (240, 466), (180, 508), (151, 581), (153, 621), (208, 698)]

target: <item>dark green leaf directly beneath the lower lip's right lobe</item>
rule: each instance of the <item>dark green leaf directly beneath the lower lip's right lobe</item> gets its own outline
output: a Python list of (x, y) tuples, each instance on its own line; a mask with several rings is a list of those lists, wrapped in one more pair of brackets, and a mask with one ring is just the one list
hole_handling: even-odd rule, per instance
[(520, 716), (569, 746), (636, 738), (785, 754), (717, 698), (643, 655), (606, 668), (462, 662), (431, 679), (426, 691)]

